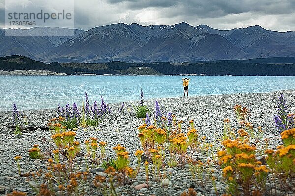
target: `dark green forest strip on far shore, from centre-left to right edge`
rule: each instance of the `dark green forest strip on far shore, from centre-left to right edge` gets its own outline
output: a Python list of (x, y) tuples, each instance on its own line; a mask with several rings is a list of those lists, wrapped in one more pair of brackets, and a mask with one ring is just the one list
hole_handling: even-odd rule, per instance
[(131, 67), (150, 67), (165, 75), (194, 73), (207, 75), (294, 76), (294, 62), (294, 57), (280, 57), (251, 60), (200, 61), (188, 63), (124, 63), (112, 61), (107, 62), (107, 65), (109, 68), (115, 70), (127, 70)]

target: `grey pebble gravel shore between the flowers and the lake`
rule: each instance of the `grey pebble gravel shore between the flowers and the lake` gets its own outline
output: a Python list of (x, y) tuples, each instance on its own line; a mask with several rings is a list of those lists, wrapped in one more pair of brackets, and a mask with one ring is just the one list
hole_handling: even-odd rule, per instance
[[(162, 111), (172, 112), (178, 119), (183, 120), (183, 128), (189, 126), (189, 120), (194, 119), (195, 127), (199, 135), (206, 137), (206, 142), (217, 144), (217, 139), (221, 137), (223, 131), (223, 120), (229, 118), (235, 119), (233, 107), (236, 104), (247, 107), (251, 112), (250, 122), (254, 127), (261, 126), (265, 131), (264, 137), (271, 139), (271, 145), (279, 144), (279, 134), (275, 129), (273, 117), (276, 114), (277, 97), (283, 94), (287, 101), (289, 110), (295, 112), (295, 89), (283, 90), (271, 93), (255, 93), (255, 94), (231, 94), (231, 95), (211, 95), (211, 96), (196, 96), (185, 98), (159, 98), (157, 99)], [(106, 100), (107, 102), (107, 100)], [(97, 137), (98, 141), (106, 141), (106, 152), (108, 157), (115, 157), (115, 152), (112, 147), (117, 144), (127, 148), (130, 152), (130, 163), (135, 165), (135, 157), (133, 152), (141, 149), (141, 144), (138, 139), (137, 127), (143, 121), (135, 117), (132, 103), (125, 103), (124, 110), (118, 113), (120, 104), (111, 104), (111, 110), (106, 119), (95, 128), (87, 128), (77, 130), (76, 140), (84, 143), (89, 137)], [(154, 111), (154, 100), (146, 100), (145, 103)], [(139, 101), (136, 103), (139, 104)], [(21, 111), (20, 116), (28, 117), (29, 126), (44, 127), (48, 123), (48, 119), (56, 116), (56, 109), (36, 110), (36, 111)], [(153, 114), (150, 114), (152, 116)], [(28, 149), (34, 144), (39, 144), (42, 149), (54, 149), (54, 144), (51, 141), (49, 131), (28, 131), (20, 136), (15, 136), (13, 131), (6, 128), (6, 125), (12, 123), (12, 112), (0, 112), (0, 194), (5, 194), (10, 190), (19, 190), (28, 192), (28, 195), (34, 195), (32, 186), (34, 182), (26, 177), (19, 177), (17, 172), (16, 162), (14, 157), (21, 155), (23, 158), (20, 161), (21, 171), (34, 172), (39, 168), (45, 168), (44, 160), (31, 160), (28, 155)], [(81, 158), (81, 164), (85, 160)], [(198, 192), (198, 196), (216, 195), (212, 184), (198, 184), (190, 177), (190, 172), (187, 167), (168, 168), (171, 173), (170, 180), (166, 188), (161, 188), (161, 182), (149, 183), (149, 188), (140, 190), (134, 189), (137, 184), (145, 182), (145, 172), (141, 172), (134, 182), (124, 187), (118, 187), (119, 195), (156, 195), (156, 196), (179, 196), (180, 193), (187, 190), (190, 186), (194, 186)], [(225, 185), (222, 182), (222, 174), (220, 171), (215, 174), (219, 180), (216, 181), (217, 190), (219, 193), (224, 193)], [(206, 177), (206, 176), (205, 176)], [(172, 186), (170, 185), (172, 183)], [(162, 184), (163, 185), (163, 184)], [(89, 185), (90, 186), (90, 185)], [(89, 187), (88, 187), (89, 188)], [(85, 187), (85, 189), (88, 189)], [(276, 187), (269, 185), (268, 189), (272, 190)], [(97, 195), (96, 191), (88, 192), (89, 195)], [(87, 194), (88, 195), (88, 194)]]

